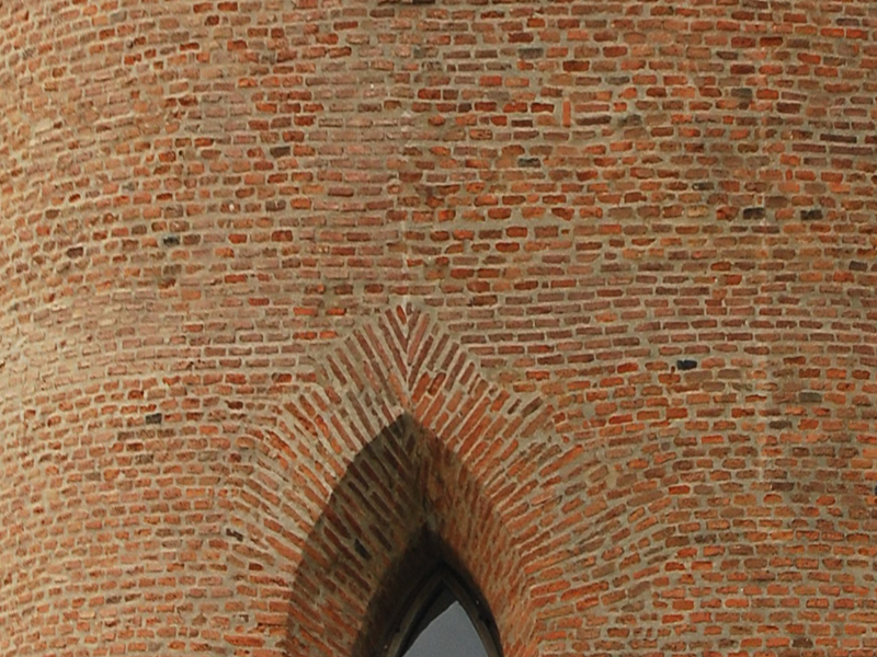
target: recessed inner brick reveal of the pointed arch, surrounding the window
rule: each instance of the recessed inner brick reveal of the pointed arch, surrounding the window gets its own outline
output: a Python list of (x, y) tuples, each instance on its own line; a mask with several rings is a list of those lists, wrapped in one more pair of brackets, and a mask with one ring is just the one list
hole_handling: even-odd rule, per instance
[(483, 592), (505, 654), (528, 654), (528, 589), (509, 528), (459, 459), (402, 414), (350, 463), (308, 534), (284, 652), (379, 655), (394, 591), (440, 563)]

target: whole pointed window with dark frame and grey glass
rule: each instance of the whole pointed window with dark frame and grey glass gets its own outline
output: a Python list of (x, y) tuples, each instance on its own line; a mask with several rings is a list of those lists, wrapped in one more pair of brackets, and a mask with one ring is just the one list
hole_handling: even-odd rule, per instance
[(500, 657), (487, 606), (442, 568), (411, 598), (388, 657)]

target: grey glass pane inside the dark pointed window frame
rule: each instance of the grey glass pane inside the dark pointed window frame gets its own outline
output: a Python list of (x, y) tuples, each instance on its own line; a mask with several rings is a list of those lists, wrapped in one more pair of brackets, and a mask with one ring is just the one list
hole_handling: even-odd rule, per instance
[(430, 603), (402, 657), (488, 657), (469, 614), (443, 587)]

